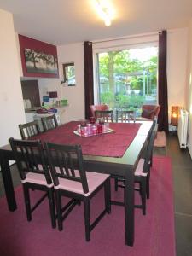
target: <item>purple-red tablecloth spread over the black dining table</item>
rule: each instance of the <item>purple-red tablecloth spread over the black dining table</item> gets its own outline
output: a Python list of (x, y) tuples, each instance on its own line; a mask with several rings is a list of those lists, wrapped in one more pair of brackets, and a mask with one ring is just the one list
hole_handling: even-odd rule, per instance
[(79, 137), (73, 133), (77, 130), (78, 124), (79, 122), (72, 121), (32, 137), (32, 139), (58, 144), (80, 144), (83, 154), (122, 157), (141, 126), (141, 124), (132, 123), (111, 123), (109, 127), (114, 130), (113, 133)]

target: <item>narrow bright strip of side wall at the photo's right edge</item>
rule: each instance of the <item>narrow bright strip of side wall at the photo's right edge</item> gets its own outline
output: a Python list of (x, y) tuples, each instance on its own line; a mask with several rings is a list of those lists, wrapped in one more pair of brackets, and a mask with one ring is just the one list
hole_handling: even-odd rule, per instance
[(192, 158), (192, 19), (189, 25), (189, 66), (187, 75), (187, 109), (189, 111), (189, 154)]

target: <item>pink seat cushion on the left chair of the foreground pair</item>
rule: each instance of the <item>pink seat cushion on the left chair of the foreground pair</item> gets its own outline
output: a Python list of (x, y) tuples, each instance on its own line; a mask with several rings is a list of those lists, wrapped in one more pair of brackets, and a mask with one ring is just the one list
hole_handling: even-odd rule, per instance
[(44, 185), (48, 188), (52, 188), (53, 187), (53, 183), (48, 184), (44, 174), (40, 174), (40, 173), (32, 173), (32, 172), (28, 172), (26, 173), (26, 179), (21, 180), (21, 183), (35, 183), (38, 185)]

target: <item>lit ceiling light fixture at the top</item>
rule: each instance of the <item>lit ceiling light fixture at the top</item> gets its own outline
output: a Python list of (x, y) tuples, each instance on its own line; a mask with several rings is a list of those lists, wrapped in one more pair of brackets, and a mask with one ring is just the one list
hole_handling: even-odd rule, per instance
[(96, 0), (96, 11), (104, 20), (105, 26), (111, 26), (113, 19), (113, 8), (108, 0)]

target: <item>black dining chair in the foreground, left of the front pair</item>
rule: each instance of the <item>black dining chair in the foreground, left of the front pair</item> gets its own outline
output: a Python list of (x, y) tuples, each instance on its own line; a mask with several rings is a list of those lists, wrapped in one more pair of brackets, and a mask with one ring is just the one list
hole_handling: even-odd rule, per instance
[[(9, 143), (15, 155), (18, 171), (20, 172), (27, 220), (32, 220), (32, 212), (47, 198), (49, 200), (51, 225), (52, 228), (55, 228), (54, 184), (49, 174), (48, 166), (45, 164), (44, 148), (41, 142), (39, 140), (16, 140), (11, 137), (9, 138)], [(30, 189), (32, 191), (45, 191), (45, 194), (33, 206), (31, 206)]]

